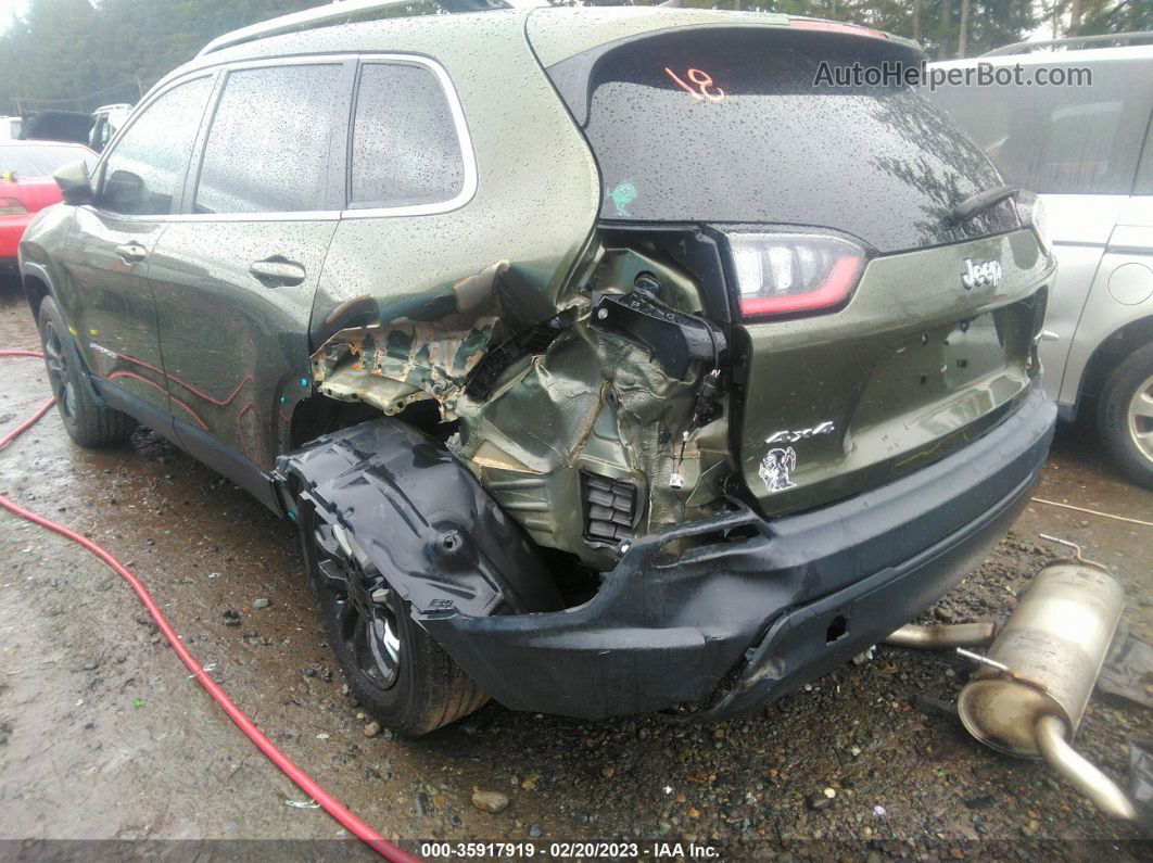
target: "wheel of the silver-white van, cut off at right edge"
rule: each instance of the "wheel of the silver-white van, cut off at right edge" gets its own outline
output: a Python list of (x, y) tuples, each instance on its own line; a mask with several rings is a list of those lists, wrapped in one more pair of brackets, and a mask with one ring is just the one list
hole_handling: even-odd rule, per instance
[(1135, 350), (1106, 379), (1098, 423), (1125, 477), (1153, 489), (1153, 345)]

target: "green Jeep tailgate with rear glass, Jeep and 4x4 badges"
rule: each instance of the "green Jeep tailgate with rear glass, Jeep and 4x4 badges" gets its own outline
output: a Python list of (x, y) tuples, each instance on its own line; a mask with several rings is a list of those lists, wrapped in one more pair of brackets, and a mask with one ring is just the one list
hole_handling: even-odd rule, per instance
[[(907, 85), (920, 54), (784, 16), (656, 21), (624, 37), (604, 25), (593, 46), (585, 29), (583, 51), (547, 71), (596, 156), (602, 224), (688, 224), (719, 241), (733, 448), (762, 509), (853, 494), (1003, 418), (1038, 371), (1038, 288), (1052, 265), (1012, 200), (950, 219), (1002, 180)], [(538, 30), (542, 62), (563, 53), (558, 28)], [(738, 256), (749, 235), (763, 253)], [(779, 235), (817, 240), (782, 249)], [(832, 302), (758, 296), (762, 279), (787, 290), (841, 248), (859, 260), (836, 270), (851, 283)]]

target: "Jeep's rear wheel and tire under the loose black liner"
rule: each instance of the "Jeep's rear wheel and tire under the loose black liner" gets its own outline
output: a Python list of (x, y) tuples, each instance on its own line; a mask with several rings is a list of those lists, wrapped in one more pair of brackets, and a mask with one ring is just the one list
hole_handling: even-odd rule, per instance
[(405, 736), (428, 734), (483, 706), (488, 695), (413, 620), (379, 570), (355, 548), (348, 553), (341, 539), (354, 540), (333, 529), (334, 520), (304, 501), (297, 514), (312, 597), (361, 705)]

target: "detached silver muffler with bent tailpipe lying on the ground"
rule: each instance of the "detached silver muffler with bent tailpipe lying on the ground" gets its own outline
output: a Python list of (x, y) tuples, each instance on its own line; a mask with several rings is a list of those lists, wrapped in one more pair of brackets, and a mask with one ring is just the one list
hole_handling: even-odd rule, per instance
[(984, 667), (960, 690), (957, 710), (982, 743), (1043, 758), (1102, 812), (1132, 819), (1124, 793), (1070, 747), (1123, 606), (1121, 585), (1083, 560), (1079, 548), (1076, 559), (1053, 561), (1037, 574), (987, 656), (958, 651)]

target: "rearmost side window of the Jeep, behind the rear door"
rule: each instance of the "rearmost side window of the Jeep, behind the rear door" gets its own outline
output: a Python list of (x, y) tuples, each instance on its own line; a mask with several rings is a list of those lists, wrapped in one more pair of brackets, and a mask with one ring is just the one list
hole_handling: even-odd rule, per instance
[(457, 121), (436, 73), (416, 63), (366, 63), (353, 121), (351, 205), (436, 204), (464, 186)]

